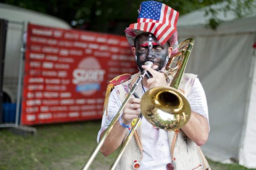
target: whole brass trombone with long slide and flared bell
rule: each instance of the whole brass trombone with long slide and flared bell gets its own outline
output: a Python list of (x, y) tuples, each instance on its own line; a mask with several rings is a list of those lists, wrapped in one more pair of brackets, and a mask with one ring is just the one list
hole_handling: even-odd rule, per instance
[[(177, 89), (180, 85), (180, 80), (184, 73), (187, 60), (190, 56), (190, 52), (194, 45), (194, 39), (186, 39), (182, 41), (178, 45), (177, 53), (171, 57), (170, 61), (167, 63), (167, 67), (165, 68), (165, 74), (168, 76), (175, 74), (170, 87), (154, 87), (149, 89), (141, 98), (140, 101), (140, 109), (141, 113), (147, 119), (150, 124), (156, 126), (160, 129), (165, 129), (167, 131), (180, 129), (184, 126), (187, 121), (190, 119), (191, 109), (190, 104), (188, 103), (187, 99), (180, 93)], [(147, 63), (145, 63), (146, 65)], [(148, 63), (151, 65), (151, 63)], [(174, 65), (174, 66), (172, 66)], [(119, 108), (116, 116), (111, 121), (111, 124), (106, 129), (105, 133), (101, 137), (101, 140), (98, 142), (98, 145), (94, 148), (94, 151), (91, 153), (89, 160), (87, 161), (86, 165), (84, 165), (83, 170), (87, 170), (91, 165), (92, 161), (96, 157), (98, 151), (100, 150), (101, 146), (103, 145), (106, 137), (113, 129), (113, 125), (119, 119), (121, 112), (123, 111), (124, 106), (133, 95), (136, 87), (140, 83), (140, 81), (146, 75), (147, 70), (143, 70), (141, 75), (139, 76), (136, 83), (133, 85), (132, 89), (128, 93), (126, 99), (124, 100), (123, 104)], [(123, 143), (123, 146), (116, 156), (113, 164), (111, 165), (111, 170), (116, 168), (123, 151), (125, 150), (128, 142), (130, 141), (131, 136), (134, 134), (135, 129), (137, 128), (138, 124), (142, 119), (142, 114), (136, 121), (133, 129), (131, 129), (130, 134), (126, 138), (126, 141)]]

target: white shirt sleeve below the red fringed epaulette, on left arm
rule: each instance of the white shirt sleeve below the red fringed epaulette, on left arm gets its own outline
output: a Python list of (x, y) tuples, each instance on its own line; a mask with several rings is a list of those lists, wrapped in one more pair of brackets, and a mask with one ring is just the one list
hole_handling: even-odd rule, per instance
[(118, 112), (118, 109), (121, 107), (121, 101), (118, 98), (117, 91), (114, 88), (112, 92), (109, 95), (109, 100), (108, 100), (108, 116), (106, 115), (106, 109), (103, 113), (102, 121), (101, 121), (101, 129), (98, 131), (98, 136), (97, 136), (97, 142), (100, 139), (101, 133), (106, 130), (115, 117), (116, 113)]

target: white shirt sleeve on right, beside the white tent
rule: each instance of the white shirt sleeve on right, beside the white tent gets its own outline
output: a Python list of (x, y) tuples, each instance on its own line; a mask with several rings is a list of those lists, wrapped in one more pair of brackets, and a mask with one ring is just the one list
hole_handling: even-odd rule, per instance
[(198, 78), (194, 80), (192, 90), (190, 95), (188, 95), (187, 100), (190, 103), (191, 110), (205, 117), (209, 124), (207, 100), (204, 89)]

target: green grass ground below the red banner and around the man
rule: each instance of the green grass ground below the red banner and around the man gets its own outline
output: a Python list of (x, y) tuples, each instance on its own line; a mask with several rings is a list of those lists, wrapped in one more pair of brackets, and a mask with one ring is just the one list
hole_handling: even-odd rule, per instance
[[(0, 129), (0, 170), (79, 170), (96, 146), (100, 121), (34, 126), (35, 136), (12, 134)], [(98, 153), (93, 170), (108, 169), (117, 153)], [(212, 170), (248, 170), (238, 164), (209, 160)]]

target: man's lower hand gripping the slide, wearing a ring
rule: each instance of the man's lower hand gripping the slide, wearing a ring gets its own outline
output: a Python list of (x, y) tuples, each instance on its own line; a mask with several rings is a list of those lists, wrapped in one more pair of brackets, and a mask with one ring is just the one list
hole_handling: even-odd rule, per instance
[(122, 122), (130, 124), (133, 119), (138, 118), (140, 115), (140, 99), (131, 98), (128, 100), (126, 106), (123, 108)]

